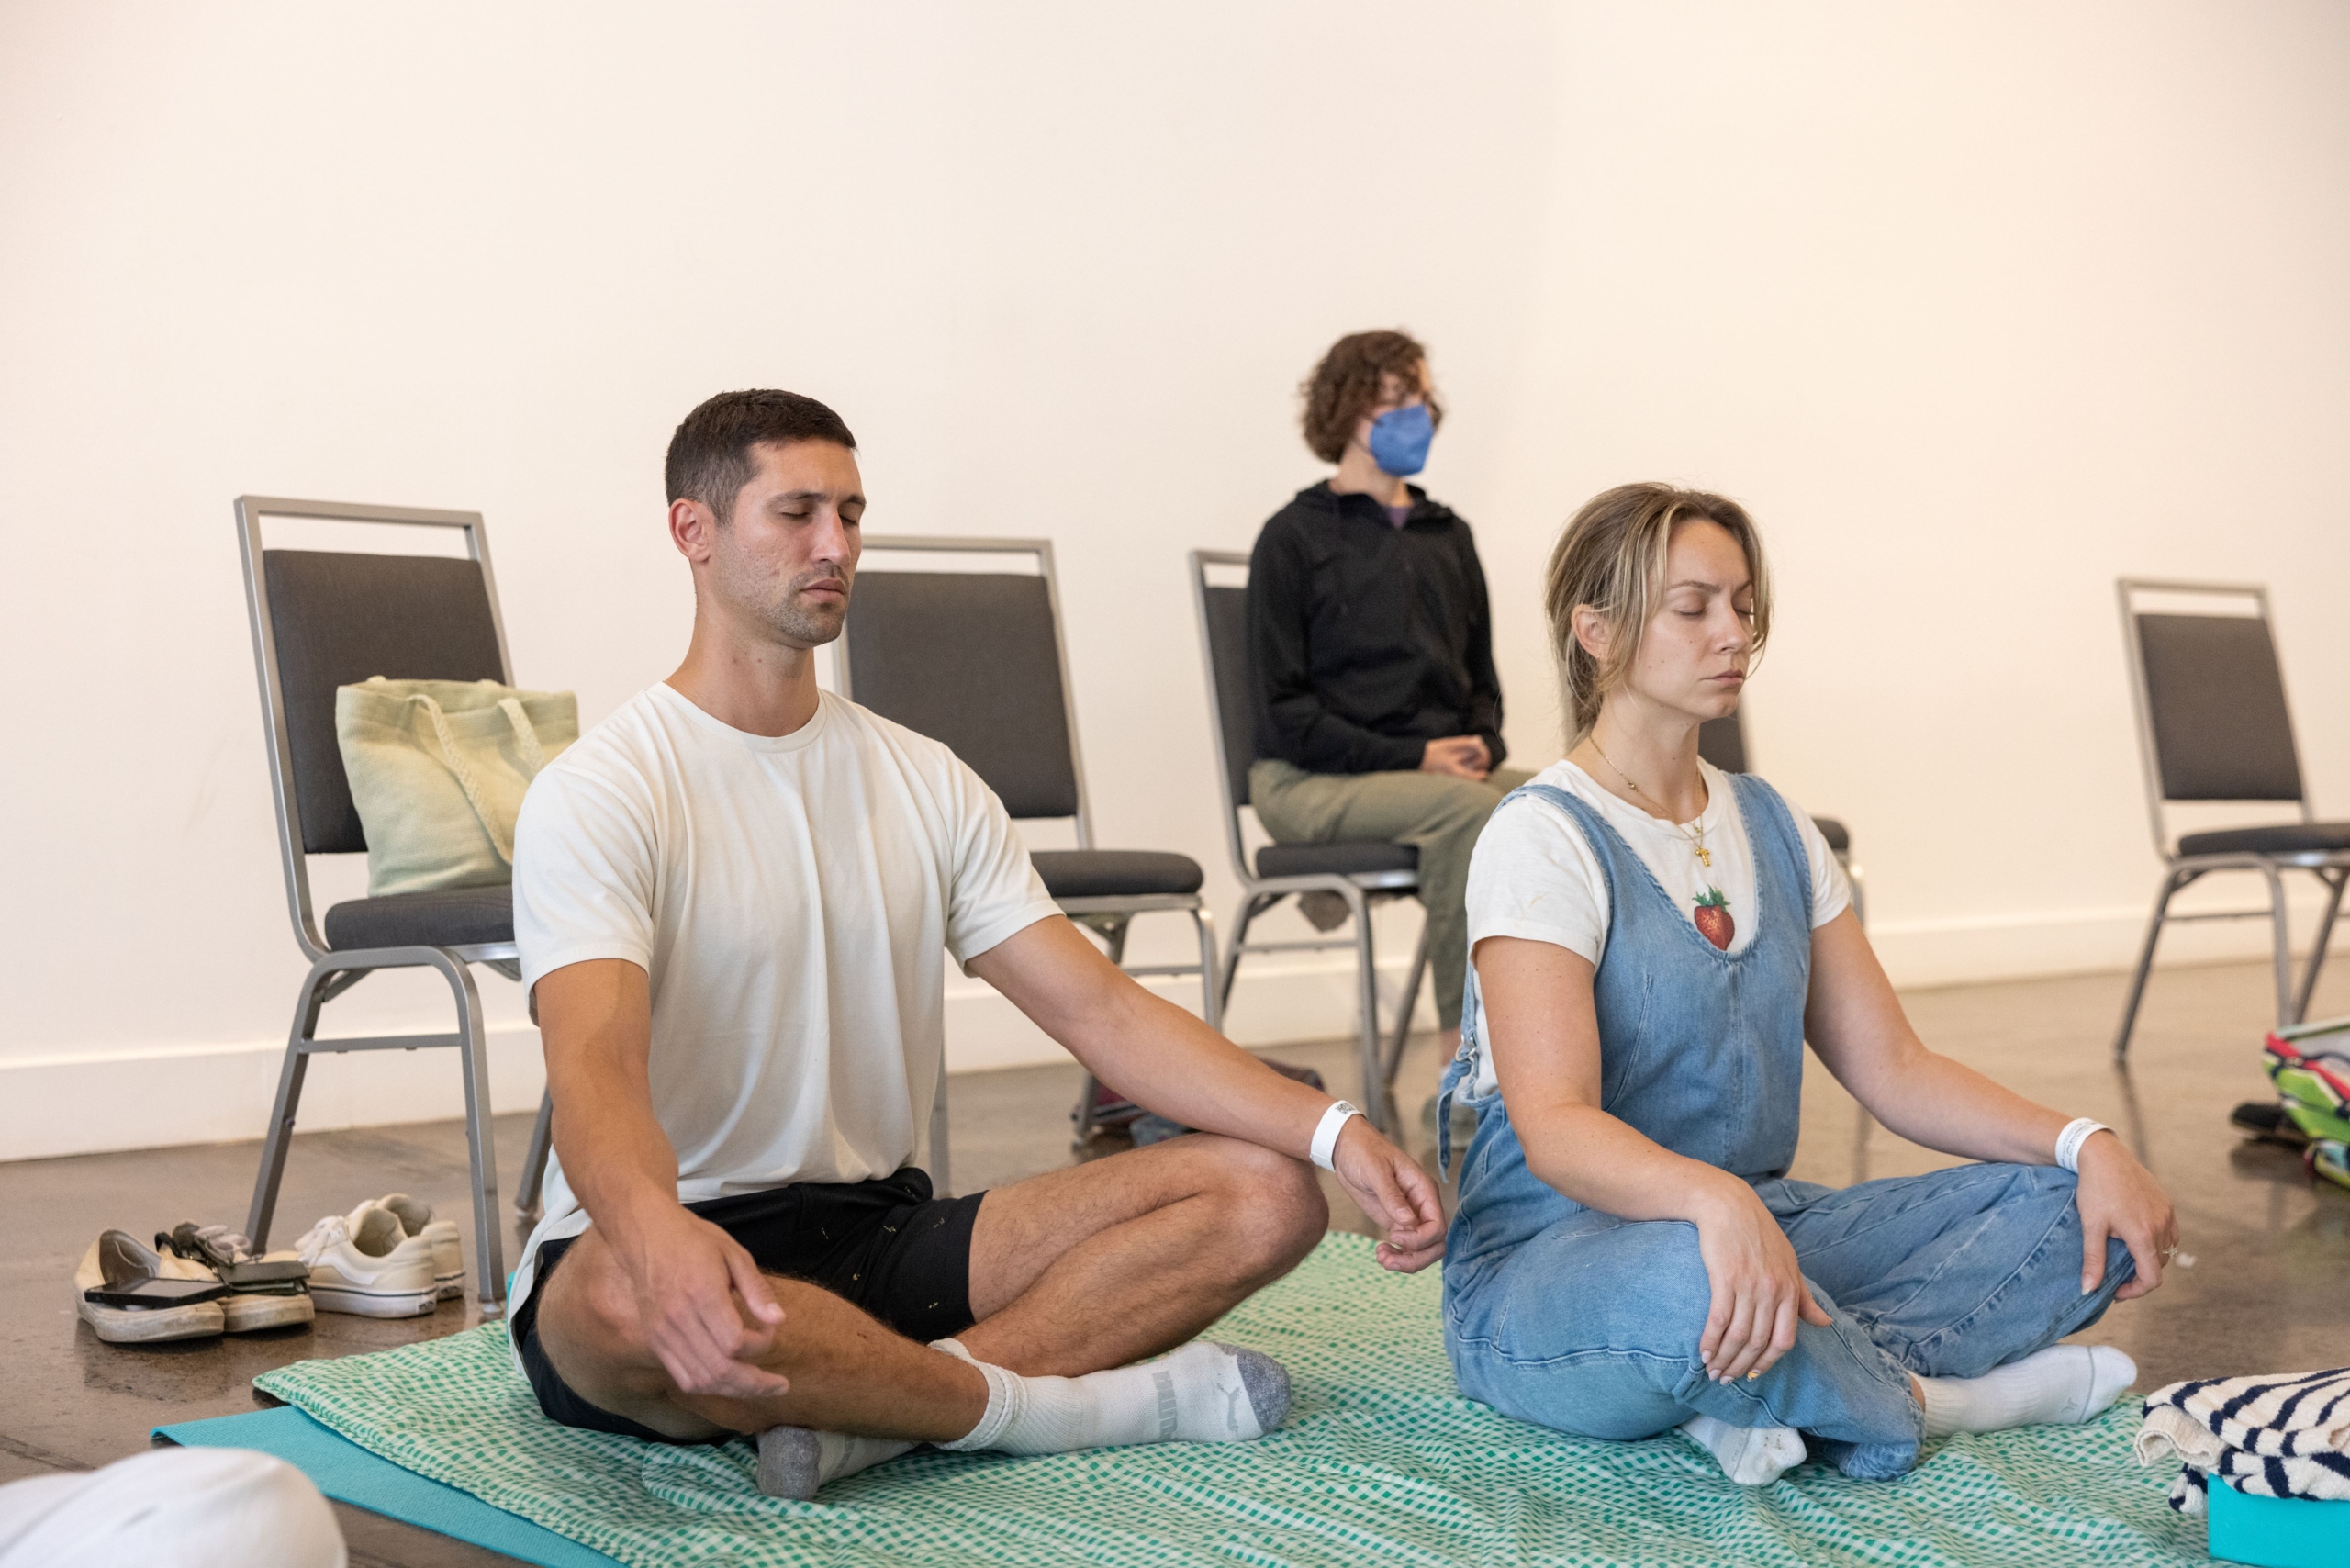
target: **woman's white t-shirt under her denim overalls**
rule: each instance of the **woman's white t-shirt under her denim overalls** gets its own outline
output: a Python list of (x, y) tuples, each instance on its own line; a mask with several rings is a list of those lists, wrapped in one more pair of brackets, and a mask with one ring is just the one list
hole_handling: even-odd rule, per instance
[[(1586, 802), (1614, 827), (1657, 884), (1694, 922), (1699, 900), (1720, 893), (1730, 924), (1725, 952), (1744, 952), (1755, 936), (1755, 858), (1730, 778), (1699, 762), (1706, 809), (1690, 823), (1666, 823), (1610, 795), (1572, 762), (1553, 762), (1535, 783), (1556, 785)], [(1791, 811), (1812, 867), (1812, 926), (1852, 907), (1852, 884), (1835, 851), (1802, 811)], [(1704, 839), (1711, 865), (1697, 853)], [(1525, 797), (1492, 813), (1469, 858), (1469, 952), (1488, 936), (1556, 943), (1598, 966), (1607, 950), (1607, 877), (1584, 830), (1556, 804)], [(1716, 917), (1708, 917), (1716, 919)], [(1476, 1093), (1492, 1093), (1492, 1053), (1478, 1053)]]

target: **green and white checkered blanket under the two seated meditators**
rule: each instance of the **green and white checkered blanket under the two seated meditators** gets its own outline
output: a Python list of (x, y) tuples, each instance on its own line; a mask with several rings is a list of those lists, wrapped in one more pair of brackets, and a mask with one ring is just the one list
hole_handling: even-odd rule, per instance
[(350, 1441), (625, 1563), (2202, 1563), (2195, 1523), (2136, 1467), (2136, 1403), (2089, 1427), (1948, 1439), (1901, 1481), (1824, 1465), (1739, 1488), (1680, 1434), (1591, 1443), (1462, 1399), (1438, 1276), (1328, 1237), (1213, 1338), (1295, 1378), (1255, 1443), (1058, 1458), (914, 1453), (778, 1502), (750, 1443), (670, 1448), (548, 1422), (491, 1324), (258, 1378)]

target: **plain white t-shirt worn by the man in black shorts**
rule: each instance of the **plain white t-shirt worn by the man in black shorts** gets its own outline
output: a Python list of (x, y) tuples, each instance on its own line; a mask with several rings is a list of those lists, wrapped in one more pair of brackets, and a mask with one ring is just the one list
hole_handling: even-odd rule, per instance
[[(625, 959), (653, 1004), (677, 1199), (926, 1159), (945, 964), (1058, 914), (1003, 804), (945, 745), (822, 693), (752, 736), (651, 686), (548, 764), (515, 827), (522, 985)], [(562, 1166), (515, 1274), (588, 1229)]]

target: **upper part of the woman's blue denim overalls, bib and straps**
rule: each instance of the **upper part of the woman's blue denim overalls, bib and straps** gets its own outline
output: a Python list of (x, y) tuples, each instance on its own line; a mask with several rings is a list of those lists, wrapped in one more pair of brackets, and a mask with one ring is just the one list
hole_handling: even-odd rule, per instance
[[(1563, 811), (1607, 884), (1607, 945), (1591, 980), (1600, 1032), (1600, 1110), (1650, 1140), (1746, 1180), (1786, 1175), (1802, 1103), (1802, 1006), (1812, 978), (1812, 867), (1788, 806), (1760, 778), (1730, 776), (1755, 865), (1753, 924), (1718, 950), (1638, 851), (1584, 799), (1528, 785)], [(1511, 799), (1513, 799), (1511, 797)], [(1504, 802), (1506, 806), (1506, 802)], [(1483, 994), (1469, 969), (1462, 1048), (1443, 1079), (1438, 1159), (1450, 1168), (1452, 1100), (1488, 1051)], [(1499, 1095), (1471, 1098), (1478, 1133), (1459, 1171), (1459, 1239), (1513, 1246), (1577, 1204), (1525, 1168)]]

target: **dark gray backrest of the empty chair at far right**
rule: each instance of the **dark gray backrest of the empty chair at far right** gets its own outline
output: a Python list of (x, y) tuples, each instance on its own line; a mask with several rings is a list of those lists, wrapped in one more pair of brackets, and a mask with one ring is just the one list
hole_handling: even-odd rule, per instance
[(2301, 757), (2268, 618), (2138, 614), (2162, 799), (2301, 799)]

